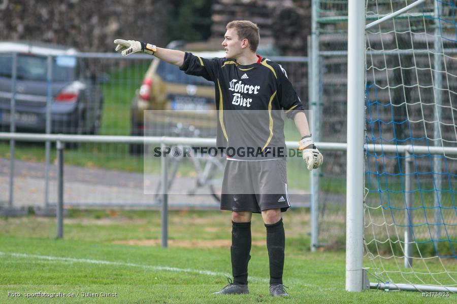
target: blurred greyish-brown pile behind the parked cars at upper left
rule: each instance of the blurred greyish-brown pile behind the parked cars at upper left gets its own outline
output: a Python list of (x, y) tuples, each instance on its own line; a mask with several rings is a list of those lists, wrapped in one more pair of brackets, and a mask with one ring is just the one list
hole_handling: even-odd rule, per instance
[[(139, 9), (141, 8), (141, 9)], [(115, 38), (167, 43), (167, 0), (3, 0), (0, 40), (113, 52)]]

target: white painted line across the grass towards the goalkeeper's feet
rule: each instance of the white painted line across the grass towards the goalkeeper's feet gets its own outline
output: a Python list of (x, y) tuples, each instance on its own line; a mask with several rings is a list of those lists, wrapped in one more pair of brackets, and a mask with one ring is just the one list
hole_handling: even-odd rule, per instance
[[(93, 260), (93, 259), (85, 259), (85, 258), (36, 255), (36, 254), (26, 254), (26, 253), (14, 253), (14, 252), (10, 253), (10, 252), (2, 252), (2, 251), (0, 251), (0, 255), (9, 255), (9, 256), (14, 256), (14, 257), (23, 257), (23, 258), (31, 258), (31, 259), (42, 259), (42, 260), (49, 260), (49, 261), (53, 261), (53, 262), (62, 262), (62, 263), (88, 263), (88, 264), (103, 264), (103, 265), (113, 265), (113, 266), (128, 266), (128, 267), (139, 267), (139, 268), (148, 269), (148, 270), (162, 270), (162, 271), (171, 271), (171, 272), (193, 273), (193, 274), (200, 274), (200, 275), (207, 275), (207, 276), (214, 276), (214, 277), (232, 277), (230, 274), (227, 274), (227, 273), (219, 273), (219, 272), (213, 272), (213, 271), (209, 271), (209, 270), (176, 268), (176, 267), (168, 267), (168, 266), (153, 266), (153, 265), (144, 265), (144, 264), (135, 264), (135, 263)], [(257, 282), (257, 283), (264, 283), (264, 284), (267, 284), (270, 282), (266, 278), (257, 278), (257, 277), (249, 277), (249, 281)]]

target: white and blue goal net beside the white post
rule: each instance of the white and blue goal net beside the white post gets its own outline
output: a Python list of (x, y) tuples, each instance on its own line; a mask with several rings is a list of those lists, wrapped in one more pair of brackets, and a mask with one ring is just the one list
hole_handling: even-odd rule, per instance
[(456, 15), (366, 0), (364, 267), (382, 289), (457, 290)]

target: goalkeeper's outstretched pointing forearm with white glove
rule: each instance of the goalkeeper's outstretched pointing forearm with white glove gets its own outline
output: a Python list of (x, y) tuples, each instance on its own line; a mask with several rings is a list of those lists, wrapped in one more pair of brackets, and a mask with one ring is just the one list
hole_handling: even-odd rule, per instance
[(146, 53), (176, 66), (182, 66), (184, 63), (185, 53), (182, 51), (157, 48), (155, 45), (135, 40), (116, 39), (114, 43), (117, 44), (116, 51), (121, 51), (122, 56)]

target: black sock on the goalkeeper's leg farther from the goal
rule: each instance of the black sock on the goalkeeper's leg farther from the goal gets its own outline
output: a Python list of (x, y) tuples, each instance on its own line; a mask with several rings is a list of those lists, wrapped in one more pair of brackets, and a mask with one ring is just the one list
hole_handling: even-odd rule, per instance
[(236, 285), (247, 285), (247, 268), (251, 256), (251, 222), (232, 221), (232, 275)]

